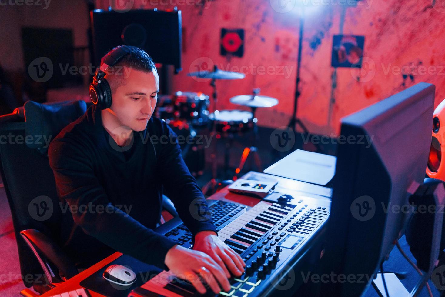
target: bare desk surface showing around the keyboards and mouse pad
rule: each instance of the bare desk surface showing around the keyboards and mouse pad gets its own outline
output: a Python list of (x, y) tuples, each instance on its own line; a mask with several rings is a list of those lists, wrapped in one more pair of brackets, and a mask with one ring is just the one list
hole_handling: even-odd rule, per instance
[[(320, 199), (329, 199), (331, 189), (318, 186), (318, 185), (312, 185), (307, 184), (301, 181), (294, 181), (285, 177), (276, 177), (271, 176), (265, 173), (258, 173), (258, 172), (248, 172), (243, 177), (243, 179), (255, 179), (260, 181), (267, 181), (268, 179), (275, 179), (278, 180), (279, 183), (275, 187), (275, 191), (280, 193), (290, 193), (291, 195), (303, 195), (308, 197), (316, 197)], [(329, 196), (328, 196), (329, 195)], [(214, 193), (212, 196), (209, 197), (213, 200), (226, 200), (231, 201), (235, 203), (244, 204), (247, 206), (254, 206), (259, 201), (261, 201), (258, 198), (248, 197), (244, 195), (239, 195), (235, 193), (231, 193), (228, 190), (228, 187), (225, 187), (221, 189), (219, 192)], [(50, 297), (54, 295), (58, 295), (61, 293), (69, 292), (75, 289), (81, 288), (80, 282), (83, 281), (85, 278), (89, 277), (93, 273), (95, 273), (97, 270), (101, 269), (108, 263), (116, 260), (118, 257), (120, 257), (122, 253), (113, 253), (109, 257), (106, 257), (104, 260), (96, 263), (95, 265), (89, 267), (88, 269), (85, 269), (81, 273), (77, 274), (76, 276), (70, 278), (68, 281), (65, 281), (61, 285), (58, 285), (56, 288), (49, 290), (48, 292), (41, 295), (42, 297)], [(88, 290), (89, 294), (92, 297), (102, 297), (103, 295), (93, 292), (91, 290)]]

